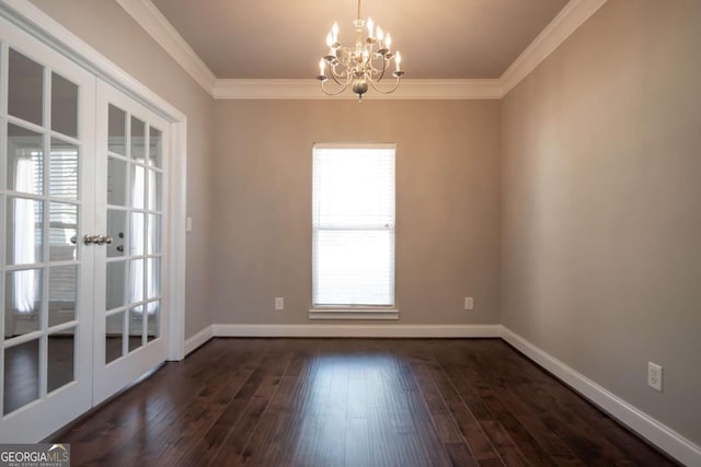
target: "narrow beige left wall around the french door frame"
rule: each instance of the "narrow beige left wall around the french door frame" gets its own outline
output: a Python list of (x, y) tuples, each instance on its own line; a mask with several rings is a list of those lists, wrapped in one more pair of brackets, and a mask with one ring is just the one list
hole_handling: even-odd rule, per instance
[(32, 0), (127, 73), (187, 116), (187, 236), (185, 336), (211, 324), (209, 314), (211, 97), (114, 1)]

